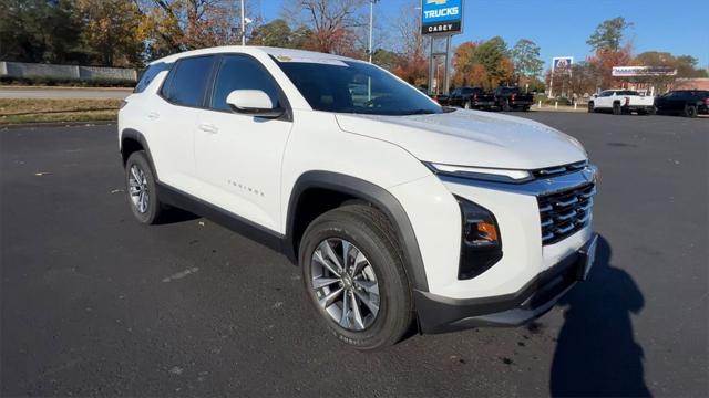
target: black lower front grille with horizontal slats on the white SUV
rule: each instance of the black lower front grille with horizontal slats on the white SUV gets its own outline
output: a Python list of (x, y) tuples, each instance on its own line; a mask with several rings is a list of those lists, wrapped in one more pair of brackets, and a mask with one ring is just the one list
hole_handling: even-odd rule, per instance
[(587, 184), (538, 197), (542, 243), (556, 243), (586, 227), (590, 222), (594, 195), (595, 185)]

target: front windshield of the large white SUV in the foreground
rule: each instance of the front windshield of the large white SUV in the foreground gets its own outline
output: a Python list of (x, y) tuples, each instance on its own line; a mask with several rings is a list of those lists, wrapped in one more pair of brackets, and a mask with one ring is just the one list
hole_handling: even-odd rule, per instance
[(363, 62), (276, 60), (316, 111), (369, 115), (418, 115), (443, 108), (417, 88)]

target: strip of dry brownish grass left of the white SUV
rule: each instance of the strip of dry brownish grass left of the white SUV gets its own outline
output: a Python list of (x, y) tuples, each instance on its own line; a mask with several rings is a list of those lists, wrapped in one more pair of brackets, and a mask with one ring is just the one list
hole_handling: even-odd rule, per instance
[(2, 100), (0, 125), (38, 122), (115, 121), (121, 100)]

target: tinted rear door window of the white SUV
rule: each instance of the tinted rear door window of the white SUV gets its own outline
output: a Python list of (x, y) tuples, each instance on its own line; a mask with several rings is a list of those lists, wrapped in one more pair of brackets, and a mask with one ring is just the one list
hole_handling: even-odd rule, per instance
[(202, 106), (213, 62), (214, 56), (179, 60), (169, 72), (161, 94), (178, 105)]

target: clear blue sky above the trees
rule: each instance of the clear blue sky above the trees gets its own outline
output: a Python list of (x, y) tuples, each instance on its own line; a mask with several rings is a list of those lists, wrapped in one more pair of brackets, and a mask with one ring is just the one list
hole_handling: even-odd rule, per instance
[[(251, 12), (267, 21), (281, 17), (282, 4), (292, 0), (250, 0)], [(374, 24), (387, 29), (404, 6), (417, 0), (379, 0), (374, 4)], [(247, 11), (249, 12), (249, 11)], [(530, 39), (541, 46), (548, 66), (553, 56), (590, 55), (586, 40), (598, 23), (624, 17), (633, 22), (626, 39), (635, 54), (666, 51), (692, 55), (700, 67), (709, 67), (709, 0), (464, 0), (463, 33), (453, 45), (502, 36), (510, 46)]]

